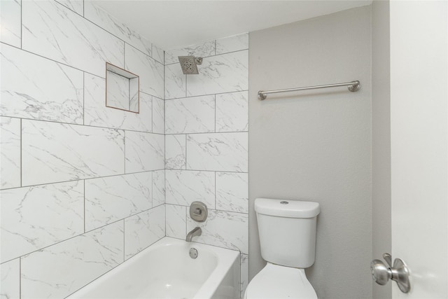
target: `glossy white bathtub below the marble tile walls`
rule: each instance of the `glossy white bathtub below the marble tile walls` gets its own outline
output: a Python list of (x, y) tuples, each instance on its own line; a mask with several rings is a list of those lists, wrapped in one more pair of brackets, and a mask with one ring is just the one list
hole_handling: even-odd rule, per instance
[(235, 299), (239, 263), (238, 251), (164, 237), (67, 298)]

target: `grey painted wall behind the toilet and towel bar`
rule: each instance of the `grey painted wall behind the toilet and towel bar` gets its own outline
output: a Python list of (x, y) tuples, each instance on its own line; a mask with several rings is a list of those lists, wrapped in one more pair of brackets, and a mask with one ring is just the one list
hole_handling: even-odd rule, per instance
[[(249, 34), (249, 272), (265, 265), (256, 197), (321, 204), (319, 298), (371, 298), (370, 6)], [(269, 95), (258, 90), (359, 80), (362, 88)]]

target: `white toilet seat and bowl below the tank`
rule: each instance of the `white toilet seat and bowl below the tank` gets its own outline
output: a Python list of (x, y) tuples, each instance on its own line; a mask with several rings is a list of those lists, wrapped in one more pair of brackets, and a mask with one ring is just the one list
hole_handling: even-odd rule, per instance
[(248, 284), (244, 298), (317, 299), (317, 294), (304, 269), (267, 263)]

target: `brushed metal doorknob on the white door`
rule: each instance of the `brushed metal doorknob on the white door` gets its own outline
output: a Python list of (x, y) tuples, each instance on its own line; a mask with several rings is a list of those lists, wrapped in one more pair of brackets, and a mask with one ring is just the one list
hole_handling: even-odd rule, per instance
[(386, 260), (385, 265), (382, 260), (372, 260), (370, 263), (370, 270), (372, 270), (372, 278), (377, 284), (387, 284), (389, 279), (397, 282), (398, 288), (403, 293), (407, 293), (411, 289), (409, 281), (409, 269), (405, 262), (400, 258), (395, 258), (392, 266), (392, 256), (389, 253), (383, 253), (383, 258)]

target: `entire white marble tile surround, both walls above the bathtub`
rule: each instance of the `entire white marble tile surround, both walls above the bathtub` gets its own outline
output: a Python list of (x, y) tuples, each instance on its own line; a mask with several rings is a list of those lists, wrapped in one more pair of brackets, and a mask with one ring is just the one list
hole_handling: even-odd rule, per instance
[[(0, 297), (64, 298), (196, 225), (241, 251), (244, 291), (248, 34), (164, 53), (92, 1), (0, 5)], [(140, 113), (104, 105), (105, 62), (140, 76)]]

